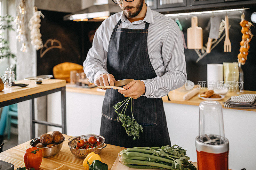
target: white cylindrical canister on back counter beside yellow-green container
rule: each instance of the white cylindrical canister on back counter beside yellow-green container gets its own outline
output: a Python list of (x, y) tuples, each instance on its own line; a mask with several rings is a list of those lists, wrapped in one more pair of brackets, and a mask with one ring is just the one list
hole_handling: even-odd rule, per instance
[(221, 82), (223, 82), (223, 64), (207, 64), (208, 89), (213, 90)]

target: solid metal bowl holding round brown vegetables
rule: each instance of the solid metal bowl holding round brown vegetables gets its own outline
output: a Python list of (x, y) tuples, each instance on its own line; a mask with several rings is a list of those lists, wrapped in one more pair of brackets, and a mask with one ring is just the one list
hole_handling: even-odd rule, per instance
[[(63, 142), (64, 141), (65, 141), (65, 137), (63, 139)], [(55, 146), (44, 147), (44, 148), (39, 148), (39, 149), (42, 150), (44, 158), (50, 157), (50, 156), (56, 155), (60, 151), (63, 142), (61, 142), (60, 144), (57, 144)], [(30, 142), (30, 145), (35, 147), (36, 144), (38, 144), (38, 143), (40, 143), (40, 137), (36, 137), (36, 138), (32, 139), (32, 141)]]

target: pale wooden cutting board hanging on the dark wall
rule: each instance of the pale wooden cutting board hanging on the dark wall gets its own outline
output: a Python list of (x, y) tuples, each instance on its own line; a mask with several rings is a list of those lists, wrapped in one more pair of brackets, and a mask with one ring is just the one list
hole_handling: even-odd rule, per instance
[(197, 17), (191, 18), (191, 27), (187, 29), (188, 49), (203, 48), (203, 29), (197, 26)]

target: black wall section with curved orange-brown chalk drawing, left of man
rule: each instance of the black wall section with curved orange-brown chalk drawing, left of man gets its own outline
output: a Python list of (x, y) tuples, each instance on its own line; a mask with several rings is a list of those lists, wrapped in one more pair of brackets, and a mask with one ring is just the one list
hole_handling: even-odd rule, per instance
[[(40, 9), (38, 9), (40, 10)], [(52, 75), (55, 65), (83, 64), (81, 22), (63, 21), (68, 13), (41, 10), (43, 48), (37, 51), (37, 75)]]

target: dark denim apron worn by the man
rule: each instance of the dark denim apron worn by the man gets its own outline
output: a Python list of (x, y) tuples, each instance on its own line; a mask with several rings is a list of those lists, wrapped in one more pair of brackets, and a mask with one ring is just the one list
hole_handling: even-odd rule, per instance
[[(132, 78), (145, 80), (155, 78), (156, 72), (148, 57), (148, 26), (144, 29), (118, 28), (121, 20), (113, 29), (108, 45), (107, 70), (116, 80)], [(105, 137), (107, 144), (122, 147), (161, 147), (171, 145), (162, 98), (147, 98), (140, 96), (132, 99), (132, 111), (135, 120), (142, 125), (140, 138), (129, 137), (122, 123), (116, 121), (118, 115), (114, 105), (127, 99), (116, 89), (108, 89), (102, 107), (100, 135)], [(125, 114), (130, 115), (131, 104)]]

